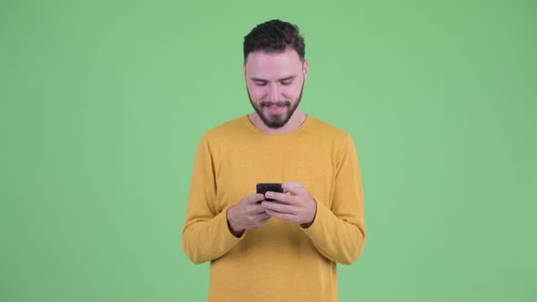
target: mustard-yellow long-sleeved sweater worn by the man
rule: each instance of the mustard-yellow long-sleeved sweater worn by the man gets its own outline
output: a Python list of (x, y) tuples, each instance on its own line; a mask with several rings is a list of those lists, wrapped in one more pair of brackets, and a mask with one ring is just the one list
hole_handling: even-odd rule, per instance
[[(307, 228), (272, 217), (234, 237), (226, 213), (256, 183), (296, 181), (317, 202)], [(366, 231), (360, 168), (349, 134), (307, 116), (269, 135), (242, 116), (198, 146), (183, 227), (194, 263), (210, 261), (208, 301), (338, 301), (336, 263), (360, 255)]]

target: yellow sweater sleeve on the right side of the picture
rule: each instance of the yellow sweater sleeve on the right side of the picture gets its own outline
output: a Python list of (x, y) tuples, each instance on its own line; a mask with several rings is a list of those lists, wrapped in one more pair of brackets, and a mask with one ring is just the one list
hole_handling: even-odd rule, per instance
[(336, 168), (331, 206), (317, 200), (315, 219), (303, 230), (321, 255), (349, 265), (360, 256), (366, 238), (360, 166), (349, 135), (339, 148)]

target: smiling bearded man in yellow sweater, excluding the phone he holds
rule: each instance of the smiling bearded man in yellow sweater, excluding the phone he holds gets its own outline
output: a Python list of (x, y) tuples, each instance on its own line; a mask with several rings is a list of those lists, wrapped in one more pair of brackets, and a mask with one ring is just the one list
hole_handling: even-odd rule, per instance
[[(183, 248), (194, 263), (210, 261), (208, 301), (337, 301), (337, 263), (364, 245), (352, 139), (299, 109), (304, 55), (296, 25), (256, 26), (243, 65), (255, 112), (199, 143)], [(284, 193), (252, 193), (281, 182)]]

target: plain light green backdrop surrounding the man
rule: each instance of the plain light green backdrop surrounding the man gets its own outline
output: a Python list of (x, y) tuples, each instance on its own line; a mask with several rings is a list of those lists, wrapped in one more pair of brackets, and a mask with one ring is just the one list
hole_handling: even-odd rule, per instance
[(1, 301), (206, 299), (192, 161), (251, 111), (242, 39), (271, 18), (305, 35), (303, 111), (360, 156), (340, 300), (537, 300), (535, 1), (1, 0)]

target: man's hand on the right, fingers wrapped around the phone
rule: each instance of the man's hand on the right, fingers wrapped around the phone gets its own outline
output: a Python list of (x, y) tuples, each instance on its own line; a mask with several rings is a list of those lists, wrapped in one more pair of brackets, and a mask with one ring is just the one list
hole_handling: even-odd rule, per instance
[[(315, 219), (317, 213), (317, 203), (308, 190), (300, 183), (287, 182), (281, 185), (284, 193), (267, 192), (266, 198), (275, 199), (274, 201), (264, 200), (261, 206), (269, 216), (278, 217), (303, 227), (309, 227)], [(289, 193), (289, 194), (286, 194)]]

